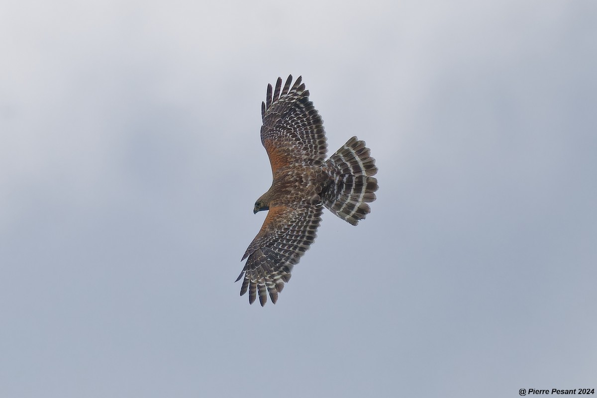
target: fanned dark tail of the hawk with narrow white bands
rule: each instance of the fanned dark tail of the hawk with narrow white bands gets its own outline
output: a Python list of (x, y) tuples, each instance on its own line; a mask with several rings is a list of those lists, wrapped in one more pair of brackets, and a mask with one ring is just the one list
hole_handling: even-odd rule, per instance
[(331, 212), (352, 225), (371, 212), (367, 204), (376, 199), (377, 173), (365, 141), (350, 138), (325, 163), (332, 179), (323, 193), (323, 202)]

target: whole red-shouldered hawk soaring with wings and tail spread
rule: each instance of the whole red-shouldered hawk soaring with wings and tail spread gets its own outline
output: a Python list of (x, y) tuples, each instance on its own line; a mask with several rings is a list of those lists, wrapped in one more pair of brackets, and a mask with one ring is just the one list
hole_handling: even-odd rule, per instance
[(267, 85), (261, 103), (261, 143), (272, 164), (273, 183), (255, 202), (254, 213), (269, 210), (261, 230), (247, 248), (247, 263), (236, 281), (241, 295), (249, 291), (253, 304), (259, 293), (261, 306), (267, 294), (273, 303), (290, 280), (290, 271), (315, 240), (324, 206), (352, 225), (371, 211), (376, 199), (375, 159), (365, 142), (350, 138), (330, 159), (323, 121), (301, 76), (284, 88), (278, 78), (272, 95)]

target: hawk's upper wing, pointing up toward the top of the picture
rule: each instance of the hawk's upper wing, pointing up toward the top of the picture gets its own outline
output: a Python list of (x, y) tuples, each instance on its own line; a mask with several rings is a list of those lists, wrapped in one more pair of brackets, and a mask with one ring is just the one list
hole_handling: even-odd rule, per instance
[(278, 78), (273, 95), (272, 85), (268, 84), (266, 102), (261, 103), (261, 143), (274, 176), (284, 166), (321, 165), (328, 147), (324, 121), (309, 101), (309, 90), (301, 84), (301, 76), (291, 87), (292, 81), (293, 76), (288, 76), (282, 88), (282, 79)]

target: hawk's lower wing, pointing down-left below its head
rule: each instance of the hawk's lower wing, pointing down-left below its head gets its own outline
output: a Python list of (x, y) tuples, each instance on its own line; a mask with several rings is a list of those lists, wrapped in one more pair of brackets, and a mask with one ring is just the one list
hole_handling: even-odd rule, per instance
[(304, 203), (269, 209), (261, 230), (242, 257), (248, 260), (236, 279), (238, 282), (245, 276), (241, 296), (248, 290), (249, 303), (253, 304), (259, 291), (259, 302), (264, 306), (269, 292), (276, 303), (294, 264), (315, 240), (322, 212), (322, 205)]

